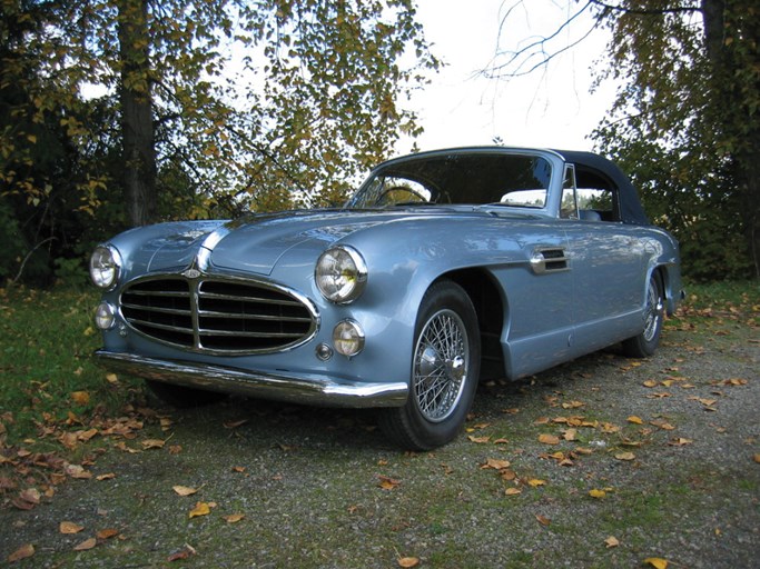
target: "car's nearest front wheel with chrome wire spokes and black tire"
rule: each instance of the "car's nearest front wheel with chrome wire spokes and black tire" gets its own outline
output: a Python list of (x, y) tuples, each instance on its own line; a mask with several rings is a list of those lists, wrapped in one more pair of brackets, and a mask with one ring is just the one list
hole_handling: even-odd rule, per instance
[(460, 433), (480, 376), (477, 330), (475, 309), (462, 287), (441, 281), (425, 293), (412, 346), (408, 400), (379, 416), (381, 428), (396, 445), (430, 450)]

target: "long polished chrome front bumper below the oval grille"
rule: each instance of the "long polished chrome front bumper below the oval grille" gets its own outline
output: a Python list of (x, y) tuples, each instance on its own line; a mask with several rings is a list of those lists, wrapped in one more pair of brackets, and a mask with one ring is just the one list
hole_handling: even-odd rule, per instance
[(165, 383), (324, 407), (401, 407), (408, 391), (404, 382), (359, 383), (322, 376), (288, 377), (105, 350), (96, 351), (95, 357), (109, 370)]

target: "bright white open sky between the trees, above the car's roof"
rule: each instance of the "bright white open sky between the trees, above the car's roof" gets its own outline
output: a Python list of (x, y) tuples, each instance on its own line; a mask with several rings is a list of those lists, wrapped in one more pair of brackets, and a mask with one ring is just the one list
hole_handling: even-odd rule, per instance
[[(520, 6), (511, 12), (500, 40), (500, 22), (514, 4)], [(477, 76), (493, 60), (500, 42), (515, 49), (531, 38), (551, 34), (566, 20), (569, 6), (578, 7), (566, 0), (418, 0), (417, 21), (433, 52), (447, 63), (408, 104), (425, 129), (416, 139), (420, 149), (491, 144), (500, 137), (506, 146), (591, 150), (588, 137), (611, 108), (614, 94), (614, 86), (606, 83), (590, 93), (590, 68), (606, 44), (603, 31), (594, 31), (549, 67), (525, 77)], [(554, 46), (573, 42), (590, 26), (590, 18), (579, 20)], [(402, 139), (396, 148), (404, 153), (411, 146), (411, 140)]]

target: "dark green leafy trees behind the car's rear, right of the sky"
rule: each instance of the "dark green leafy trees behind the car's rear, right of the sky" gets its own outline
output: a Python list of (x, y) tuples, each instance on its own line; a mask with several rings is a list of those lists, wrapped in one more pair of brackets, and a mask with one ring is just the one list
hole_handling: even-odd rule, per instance
[(604, 2), (621, 87), (594, 131), (633, 173), (695, 279), (760, 274), (760, 8), (753, 0)]

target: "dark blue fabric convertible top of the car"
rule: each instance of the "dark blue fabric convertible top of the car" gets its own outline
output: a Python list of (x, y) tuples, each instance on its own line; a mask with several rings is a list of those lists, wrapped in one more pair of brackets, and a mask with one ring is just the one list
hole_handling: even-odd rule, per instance
[[(609, 182), (618, 187), (620, 198), (620, 216), (623, 223), (649, 226), (650, 221), (641, 206), (639, 194), (631, 180), (623, 171), (606, 158), (593, 152), (578, 150), (554, 150), (564, 158), (565, 162), (575, 164), (575, 176), (579, 186), (582, 186), (584, 176), (594, 176), (596, 172), (609, 179)], [(599, 178), (599, 176), (596, 176)]]

